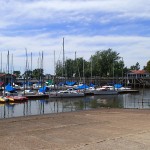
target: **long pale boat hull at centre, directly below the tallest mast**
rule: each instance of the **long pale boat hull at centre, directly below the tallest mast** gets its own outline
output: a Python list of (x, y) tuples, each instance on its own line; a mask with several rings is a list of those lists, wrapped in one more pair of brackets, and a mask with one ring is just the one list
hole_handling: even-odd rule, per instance
[(69, 90), (63, 90), (63, 91), (56, 91), (56, 92), (50, 92), (49, 97), (50, 98), (73, 98), (73, 97), (83, 97), (84, 93), (77, 92), (77, 91), (69, 91)]

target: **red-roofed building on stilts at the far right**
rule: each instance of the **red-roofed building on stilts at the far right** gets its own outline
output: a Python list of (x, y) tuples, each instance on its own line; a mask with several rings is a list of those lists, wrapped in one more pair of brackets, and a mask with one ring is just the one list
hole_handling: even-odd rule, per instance
[(148, 78), (148, 77), (150, 77), (150, 73), (147, 72), (146, 70), (130, 70), (127, 73), (127, 78), (139, 79), (139, 78)]

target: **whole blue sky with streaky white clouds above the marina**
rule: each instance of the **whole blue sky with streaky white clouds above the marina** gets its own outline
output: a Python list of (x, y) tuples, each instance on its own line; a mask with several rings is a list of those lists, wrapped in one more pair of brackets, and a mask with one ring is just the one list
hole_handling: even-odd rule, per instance
[[(0, 69), (36, 69), (111, 48), (125, 66), (150, 60), (150, 0), (0, 0)], [(55, 55), (54, 55), (55, 52)], [(31, 56), (32, 53), (32, 56)], [(26, 55), (28, 57), (26, 57)], [(32, 59), (31, 59), (32, 58)], [(32, 63), (31, 63), (32, 62)]]

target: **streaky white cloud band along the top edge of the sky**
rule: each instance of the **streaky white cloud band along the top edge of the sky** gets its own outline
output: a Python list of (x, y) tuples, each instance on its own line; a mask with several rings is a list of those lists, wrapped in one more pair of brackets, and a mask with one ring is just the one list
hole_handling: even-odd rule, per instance
[[(39, 1), (20, 1), (9, 0), (0, 1), (0, 17), (2, 22), (10, 25), (21, 24), (34, 20), (68, 21), (84, 20), (87, 21), (93, 13), (115, 13), (115, 17), (128, 19), (150, 18), (149, 0), (93, 0), (93, 1), (72, 1), (72, 0), (39, 0)], [(112, 14), (113, 15), (113, 14)], [(92, 16), (92, 15), (91, 15)], [(90, 17), (91, 17), (90, 16)], [(94, 17), (94, 15), (93, 15)], [(86, 18), (87, 20), (85, 20)], [(33, 19), (33, 20), (32, 20)], [(109, 19), (113, 19), (109, 17)], [(89, 18), (91, 21), (92, 18)], [(89, 21), (88, 20), (88, 21)], [(0, 21), (0, 22), (1, 22)], [(109, 21), (103, 18), (103, 22)]]

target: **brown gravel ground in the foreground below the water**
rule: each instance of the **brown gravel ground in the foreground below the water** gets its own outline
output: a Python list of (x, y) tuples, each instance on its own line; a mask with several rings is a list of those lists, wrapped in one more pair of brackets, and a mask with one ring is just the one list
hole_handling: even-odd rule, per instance
[(150, 110), (97, 109), (0, 120), (0, 150), (150, 150)]

